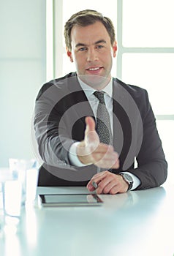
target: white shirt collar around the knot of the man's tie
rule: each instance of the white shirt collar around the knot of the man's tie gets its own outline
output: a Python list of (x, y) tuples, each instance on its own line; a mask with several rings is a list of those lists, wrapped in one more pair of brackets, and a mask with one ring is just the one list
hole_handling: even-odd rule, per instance
[[(88, 86), (86, 83), (84, 83), (82, 80), (80, 80), (80, 78), (77, 76), (77, 79), (80, 83), (81, 88), (83, 89), (83, 91), (86, 94), (86, 97), (90, 97), (91, 94), (94, 94), (94, 91), (97, 91), (95, 89), (93, 89), (91, 86)], [(105, 86), (104, 89), (102, 89), (102, 91), (105, 91), (105, 93), (107, 95), (110, 96), (110, 98), (113, 97), (113, 78), (110, 79), (110, 82), (107, 84), (107, 86)]]

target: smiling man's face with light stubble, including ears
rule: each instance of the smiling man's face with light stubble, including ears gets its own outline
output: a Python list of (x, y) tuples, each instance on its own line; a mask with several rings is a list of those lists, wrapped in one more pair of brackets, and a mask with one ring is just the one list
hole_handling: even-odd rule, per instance
[(74, 26), (71, 39), (72, 50), (67, 50), (67, 55), (75, 62), (77, 75), (90, 86), (104, 81), (102, 87), (105, 87), (117, 50), (116, 42), (111, 45), (105, 26), (98, 21), (85, 27)]

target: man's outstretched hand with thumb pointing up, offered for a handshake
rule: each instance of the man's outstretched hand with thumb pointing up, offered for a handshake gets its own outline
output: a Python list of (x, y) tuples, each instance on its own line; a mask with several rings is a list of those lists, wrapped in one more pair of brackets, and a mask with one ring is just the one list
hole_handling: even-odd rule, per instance
[(85, 138), (77, 146), (77, 157), (84, 165), (94, 164), (101, 168), (117, 169), (119, 167), (118, 154), (113, 146), (99, 142), (95, 125), (94, 118), (86, 117)]

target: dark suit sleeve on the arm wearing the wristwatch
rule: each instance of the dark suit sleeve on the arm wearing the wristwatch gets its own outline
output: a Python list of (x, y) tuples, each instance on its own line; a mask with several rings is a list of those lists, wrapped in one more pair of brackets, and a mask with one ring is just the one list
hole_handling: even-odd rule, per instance
[(144, 106), (140, 108), (143, 121), (143, 141), (137, 154), (137, 168), (129, 170), (141, 181), (137, 189), (159, 187), (167, 178), (167, 162), (162, 141), (159, 138), (156, 119), (146, 91), (145, 98), (145, 108)]

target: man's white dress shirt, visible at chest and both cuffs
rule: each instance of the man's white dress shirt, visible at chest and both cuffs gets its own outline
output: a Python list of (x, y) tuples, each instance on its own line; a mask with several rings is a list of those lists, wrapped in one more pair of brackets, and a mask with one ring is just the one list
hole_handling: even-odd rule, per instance
[[(78, 78), (78, 77), (77, 77)], [(84, 93), (86, 94), (86, 97), (88, 99), (89, 104), (91, 105), (91, 109), (94, 112), (94, 116), (97, 116), (97, 108), (98, 108), (98, 104), (99, 104), (99, 99), (97, 99), (97, 97), (95, 97), (94, 95), (94, 91), (96, 91), (95, 89), (93, 89), (91, 86), (88, 86), (86, 83), (83, 83), (82, 80), (80, 80), (80, 78), (78, 78), (78, 81), (80, 83), (81, 88), (83, 89)], [(112, 134), (113, 134), (113, 79), (110, 80), (110, 82), (107, 84), (107, 86), (105, 87), (105, 89), (103, 89), (102, 91), (105, 92), (105, 105), (106, 108), (108, 110), (108, 113), (110, 115), (110, 125), (111, 125), (111, 130), (112, 130)], [(83, 167), (86, 165), (83, 165), (82, 162), (80, 162), (80, 160), (77, 157), (76, 154), (76, 150), (77, 150), (77, 145), (80, 142), (76, 142), (73, 143), (72, 146), (69, 148), (69, 159), (72, 162), (72, 165), (78, 166), (78, 167)], [(88, 164), (91, 165), (91, 164)], [(136, 187), (138, 187), (140, 185), (140, 179), (137, 178), (137, 176), (135, 176), (132, 173), (129, 172), (121, 172), (121, 173), (128, 173), (130, 176), (132, 176), (133, 179), (133, 186), (132, 189), (136, 189)]]

